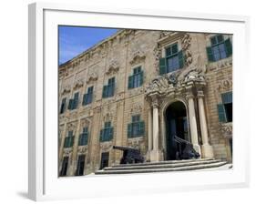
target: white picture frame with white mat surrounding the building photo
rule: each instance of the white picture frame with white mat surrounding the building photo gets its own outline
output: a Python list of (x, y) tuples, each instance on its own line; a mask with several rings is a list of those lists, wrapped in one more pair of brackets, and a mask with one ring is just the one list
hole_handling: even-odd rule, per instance
[[(136, 22), (136, 23), (135, 23)], [(249, 185), (249, 130), (241, 116), (249, 67), (247, 16), (172, 11), (88, 8), (85, 5), (29, 5), (29, 172), (28, 197), (34, 200), (226, 189)], [(140, 175), (57, 177), (57, 25), (125, 27), (233, 34), (233, 168), (220, 171)], [(240, 50), (240, 52), (238, 52)], [(239, 57), (238, 57), (239, 56)], [(243, 67), (241, 69), (240, 67)], [(54, 97), (53, 97), (54, 96)], [(53, 156), (54, 155), (54, 156)], [(56, 157), (55, 157), (56, 156)], [(191, 176), (192, 175), (192, 176)], [(123, 185), (123, 184), (126, 185)], [(99, 185), (100, 184), (100, 185)], [(108, 184), (108, 188), (104, 188)], [(122, 188), (120, 188), (122, 185)]]

